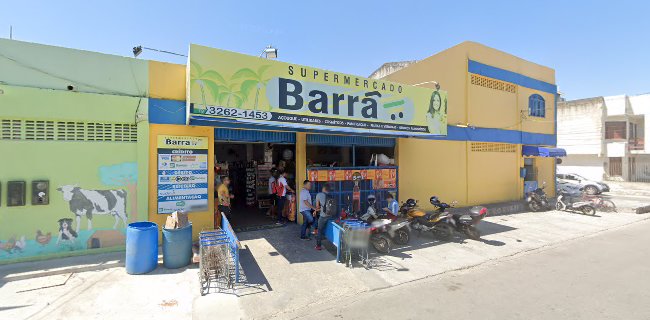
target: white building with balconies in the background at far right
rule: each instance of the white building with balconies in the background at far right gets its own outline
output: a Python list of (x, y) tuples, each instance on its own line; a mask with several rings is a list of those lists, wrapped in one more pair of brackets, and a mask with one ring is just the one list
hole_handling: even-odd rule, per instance
[[(558, 173), (593, 180), (650, 182), (650, 94), (559, 101), (557, 145), (567, 151)], [(650, 141), (650, 140), (648, 140)]]

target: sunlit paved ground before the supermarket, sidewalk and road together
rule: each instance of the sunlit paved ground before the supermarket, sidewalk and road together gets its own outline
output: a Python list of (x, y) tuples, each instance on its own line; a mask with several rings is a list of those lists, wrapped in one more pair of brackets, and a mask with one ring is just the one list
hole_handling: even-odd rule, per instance
[[(123, 252), (19, 263), (0, 266), (0, 319), (293, 319), (315, 311), (377, 319), (557, 319), (580, 311), (596, 319), (590, 316), (619, 309), (626, 317), (610, 318), (640, 319), (649, 315), (639, 302), (648, 301), (640, 290), (647, 280), (635, 278), (650, 262), (648, 218), (629, 211), (490, 216), (479, 226), (481, 242), (415, 236), (375, 257), (370, 270), (335, 263), (313, 241), (299, 241), (295, 225), (245, 232), (245, 281), (206, 296), (195, 265), (132, 276)], [(640, 307), (627, 308), (634, 303)]]

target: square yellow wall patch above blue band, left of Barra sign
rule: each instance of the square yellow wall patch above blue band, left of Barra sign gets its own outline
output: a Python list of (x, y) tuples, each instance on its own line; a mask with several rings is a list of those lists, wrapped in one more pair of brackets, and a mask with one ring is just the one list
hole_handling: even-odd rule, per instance
[(149, 97), (185, 100), (185, 65), (149, 61)]

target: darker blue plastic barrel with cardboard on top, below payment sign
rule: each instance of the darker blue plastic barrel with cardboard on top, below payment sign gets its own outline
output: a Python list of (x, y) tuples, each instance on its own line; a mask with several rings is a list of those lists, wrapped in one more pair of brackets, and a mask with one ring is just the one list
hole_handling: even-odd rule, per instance
[(180, 229), (163, 228), (163, 265), (182, 268), (192, 259), (192, 224)]

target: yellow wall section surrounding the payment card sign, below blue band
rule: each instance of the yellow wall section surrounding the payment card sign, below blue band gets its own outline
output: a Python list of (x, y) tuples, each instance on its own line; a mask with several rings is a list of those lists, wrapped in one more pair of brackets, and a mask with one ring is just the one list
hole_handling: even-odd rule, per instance
[[(214, 130), (212, 127), (191, 127), (182, 125), (160, 125), (152, 124), (149, 130), (149, 221), (158, 224), (159, 228), (165, 225), (165, 220), (169, 215), (158, 214), (158, 157), (157, 141), (158, 135), (180, 135), (180, 136), (197, 136), (208, 137), (208, 168), (214, 167)], [(214, 181), (214, 171), (208, 170), (208, 181)], [(192, 222), (193, 238), (198, 239), (198, 233), (201, 230), (214, 229), (214, 184), (208, 183), (208, 208), (206, 212), (193, 212), (189, 214), (189, 220)]]

